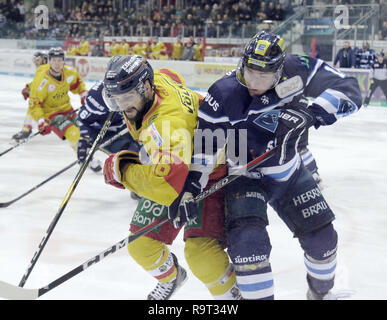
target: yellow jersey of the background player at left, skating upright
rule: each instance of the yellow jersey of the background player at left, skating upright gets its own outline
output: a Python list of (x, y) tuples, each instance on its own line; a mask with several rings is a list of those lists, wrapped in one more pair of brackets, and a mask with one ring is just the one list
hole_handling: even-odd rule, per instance
[(47, 119), (58, 111), (70, 110), (72, 106), (69, 91), (79, 94), (87, 90), (81, 76), (73, 67), (63, 67), (61, 81), (53, 78), (49, 69), (49, 64), (40, 66), (31, 84), (28, 114), (35, 121), (40, 118)]

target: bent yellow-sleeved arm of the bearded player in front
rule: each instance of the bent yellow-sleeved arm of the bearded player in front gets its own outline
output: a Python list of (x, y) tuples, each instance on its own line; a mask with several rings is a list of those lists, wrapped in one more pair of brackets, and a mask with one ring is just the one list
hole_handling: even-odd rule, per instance
[[(170, 134), (168, 128), (170, 127)], [(149, 165), (130, 165), (122, 184), (131, 191), (163, 205), (170, 205), (182, 192), (188, 175), (193, 143), (184, 120), (155, 121), (142, 133)]]

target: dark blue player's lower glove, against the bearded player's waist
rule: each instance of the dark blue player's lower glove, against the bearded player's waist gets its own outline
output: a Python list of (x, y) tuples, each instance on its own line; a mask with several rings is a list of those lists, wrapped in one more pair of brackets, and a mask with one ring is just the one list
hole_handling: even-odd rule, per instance
[(168, 208), (168, 219), (176, 229), (198, 216), (198, 203), (194, 199), (201, 192), (199, 177), (199, 172), (190, 172), (183, 191)]

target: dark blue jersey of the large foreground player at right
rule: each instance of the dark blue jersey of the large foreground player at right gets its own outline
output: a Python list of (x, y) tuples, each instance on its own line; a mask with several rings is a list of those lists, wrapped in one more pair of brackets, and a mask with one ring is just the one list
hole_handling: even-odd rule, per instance
[[(320, 59), (306, 56), (287, 55), (279, 84), (260, 96), (250, 96), (237, 80), (235, 70), (216, 81), (199, 108), (191, 165), (191, 170), (202, 173), (202, 187), (223, 148), (227, 147), (231, 167), (244, 165), (273, 148), (277, 143), (276, 110), (294, 108), (308, 97), (314, 98), (308, 109), (317, 119), (316, 127), (330, 125), (356, 112), (362, 103), (355, 78), (346, 77)], [(283, 143), (275, 157), (247, 176), (288, 181), (301, 159), (297, 143), (291, 146), (286, 145), (286, 140)]]

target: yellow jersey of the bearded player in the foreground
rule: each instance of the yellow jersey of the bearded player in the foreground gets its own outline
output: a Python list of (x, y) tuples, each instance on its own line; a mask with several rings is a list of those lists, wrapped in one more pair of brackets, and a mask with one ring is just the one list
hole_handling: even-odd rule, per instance
[(135, 140), (144, 145), (148, 165), (124, 167), (123, 185), (162, 205), (171, 205), (181, 193), (193, 151), (193, 135), (202, 97), (185, 87), (182, 77), (170, 70), (154, 72), (155, 100), (141, 127), (126, 119)]

